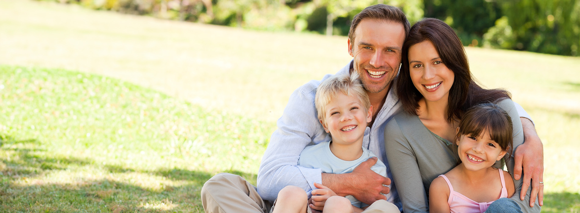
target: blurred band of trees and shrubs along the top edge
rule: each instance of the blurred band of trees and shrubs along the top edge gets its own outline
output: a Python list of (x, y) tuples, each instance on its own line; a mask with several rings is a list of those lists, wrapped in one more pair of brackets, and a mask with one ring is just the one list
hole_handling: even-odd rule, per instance
[(403, 9), (411, 23), (436, 17), (464, 45), (578, 56), (578, 0), (55, 0), (99, 10), (267, 31), (347, 35), (376, 3)]

